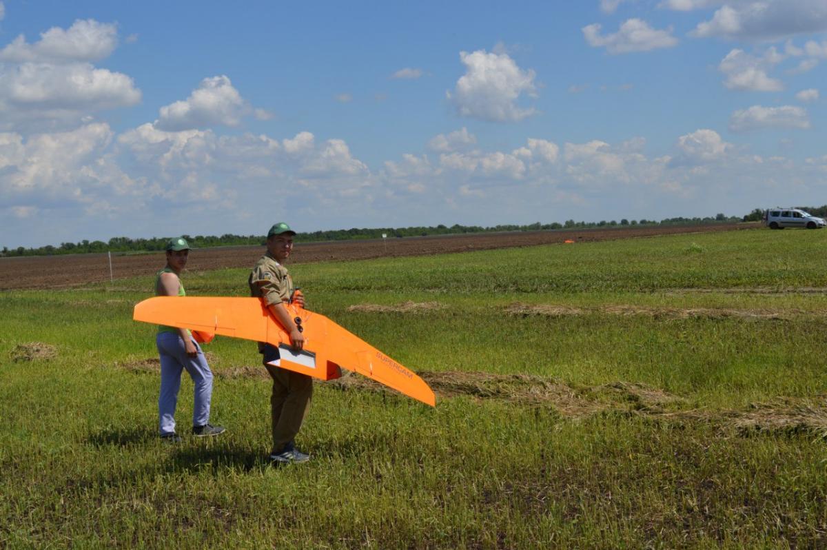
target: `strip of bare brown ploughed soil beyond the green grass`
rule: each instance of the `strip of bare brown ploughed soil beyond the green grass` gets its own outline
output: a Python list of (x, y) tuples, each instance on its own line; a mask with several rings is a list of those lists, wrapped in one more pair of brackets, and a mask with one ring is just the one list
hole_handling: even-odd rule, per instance
[[(676, 233), (736, 231), (760, 227), (758, 223), (717, 223), (671, 227), (612, 227), (535, 232), (475, 233), (433, 237), (404, 237), (337, 242), (297, 243), (291, 263), (313, 261), (366, 260), (370, 258), (424, 256), (574, 242), (607, 241), (633, 237), (653, 237)], [(189, 257), (189, 271), (251, 267), (264, 252), (263, 246), (220, 246), (203, 248)], [(116, 279), (149, 275), (164, 265), (164, 254), (112, 255)], [(60, 289), (109, 280), (106, 254), (63, 256), (23, 256), (0, 258), (0, 290)]]

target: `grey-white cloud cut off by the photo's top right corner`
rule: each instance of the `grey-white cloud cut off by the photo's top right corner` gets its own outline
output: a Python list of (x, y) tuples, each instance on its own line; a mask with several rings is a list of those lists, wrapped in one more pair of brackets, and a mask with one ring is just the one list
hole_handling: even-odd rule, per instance
[(749, 0), (720, 7), (693, 36), (743, 40), (775, 40), (827, 31), (824, 0)]

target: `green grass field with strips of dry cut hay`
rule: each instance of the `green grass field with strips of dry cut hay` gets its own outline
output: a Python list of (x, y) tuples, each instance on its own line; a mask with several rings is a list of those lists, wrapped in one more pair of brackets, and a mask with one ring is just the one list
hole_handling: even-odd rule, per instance
[[(282, 468), (251, 342), (207, 347), (228, 432), (158, 441), (154, 328), (131, 321), (151, 278), (2, 292), (0, 548), (825, 547), (825, 239), (296, 265), (308, 307), (437, 408), (319, 384), (313, 461)], [(184, 284), (246, 295), (246, 271)]]

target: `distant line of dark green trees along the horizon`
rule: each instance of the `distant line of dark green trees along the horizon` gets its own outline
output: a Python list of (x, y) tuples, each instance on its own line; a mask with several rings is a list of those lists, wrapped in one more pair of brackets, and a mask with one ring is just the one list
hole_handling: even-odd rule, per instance
[[(819, 208), (801, 207), (815, 216), (827, 216), (827, 205)], [(690, 225), (704, 223), (732, 223), (732, 222), (757, 222), (762, 219), (763, 210), (755, 208), (743, 218), (737, 216), (726, 216), (717, 214), (712, 218), (667, 218), (660, 222), (655, 220), (621, 219), (600, 221), (600, 222), (575, 222), (568, 220), (563, 223), (530, 223), (528, 225), (497, 225), (493, 227), (465, 226), (454, 224), (450, 227), (442, 224), (436, 227), (377, 227), (377, 228), (356, 228), (336, 229), (332, 231), (314, 231), (299, 233), (295, 237), (296, 242), (319, 242), (319, 241), (347, 241), (352, 239), (378, 239), (382, 235), (387, 237), (426, 237), (428, 235), (452, 235), (461, 233), (487, 233), (487, 232), (509, 232), (509, 231), (541, 231), (553, 229), (581, 229), (590, 227), (626, 227), (626, 226), (657, 226), (657, 225)], [(178, 237), (177, 235), (175, 237)], [(206, 248), (208, 246), (243, 246), (260, 245), (264, 246), (266, 237), (264, 235), (232, 235), (227, 233), (221, 237), (203, 235), (183, 235), (190, 246), (195, 248)], [(153, 237), (150, 239), (131, 239), (129, 237), (112, 237), (108, 242), (103, 241), (81, 241), (61, 242), (60, 246), (41, 246), (40, 248), (17, 248), (9, 249), (2, 247), (2, 256), (51, 256), (55, 254), (88, 254), (95, 252), (152, 252), (162, 251), (170, 237)]]

